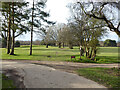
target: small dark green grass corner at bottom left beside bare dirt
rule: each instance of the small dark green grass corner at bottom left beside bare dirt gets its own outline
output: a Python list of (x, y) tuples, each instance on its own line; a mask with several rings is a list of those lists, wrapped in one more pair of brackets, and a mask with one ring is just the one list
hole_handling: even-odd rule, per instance
[(2, 88), (16, 88), (13, 84), (13, 81), (8, 79), (4, 74), (0, 75), (0, 79), (2, 81)]

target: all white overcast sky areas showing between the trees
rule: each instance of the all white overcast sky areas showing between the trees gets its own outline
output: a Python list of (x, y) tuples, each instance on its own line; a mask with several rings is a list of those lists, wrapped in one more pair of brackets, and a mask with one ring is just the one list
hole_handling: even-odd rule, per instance
[[(31, 1), (32, 0), (27, 0)], [(46, 10), (50, 11), (50, 18), (49, 20), (57, 21), (57, 23), (67, 23), (67, 19), (70, 16), (69, 8), (66, 5), (71, 2), (72, 0), (48, 0)], [(34, 34), (33, 40), (40, 39)], [(118, 36), (114, 32), (109, 31), (109, 35), (107, 37), (102, 38), (105, 39), (112, 39), (118, 41)], [(21, 35), (16, 38), (16, 40), (23, 40), (28, 41), (30, 40), (30, 33)]]

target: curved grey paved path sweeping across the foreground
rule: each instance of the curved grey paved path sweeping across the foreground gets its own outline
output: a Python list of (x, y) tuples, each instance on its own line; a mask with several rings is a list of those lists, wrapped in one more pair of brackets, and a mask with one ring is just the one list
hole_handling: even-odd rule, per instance
[(105, 88), (98, 83), (44, 65), (3, 61), (2, 69), (15, 69), (24, 77), (26, 88)]

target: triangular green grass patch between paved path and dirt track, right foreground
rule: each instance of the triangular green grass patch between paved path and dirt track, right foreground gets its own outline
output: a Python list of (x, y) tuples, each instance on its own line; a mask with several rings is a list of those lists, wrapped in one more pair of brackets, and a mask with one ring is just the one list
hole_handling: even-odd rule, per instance
[(94, 80), (106, 87), (120, 87), (120, 69), (117, 68), (80, 68), (78, 71), (80, 76)]

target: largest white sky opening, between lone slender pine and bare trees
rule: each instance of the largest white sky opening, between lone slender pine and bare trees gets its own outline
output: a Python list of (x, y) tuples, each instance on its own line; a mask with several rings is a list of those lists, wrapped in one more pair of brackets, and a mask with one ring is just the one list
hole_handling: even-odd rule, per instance
[(59, 23), (67, 23), (69, 17), (69, 8), (66, 7), (68, 0), (48, 0), (47, 9), (50, 10), (50, 20)]

